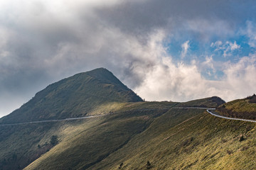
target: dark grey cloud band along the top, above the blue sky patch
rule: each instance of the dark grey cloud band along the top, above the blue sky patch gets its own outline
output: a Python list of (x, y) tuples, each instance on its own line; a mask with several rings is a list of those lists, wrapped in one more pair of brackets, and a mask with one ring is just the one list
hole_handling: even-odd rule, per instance
[[(253, 1), (245, 2), (254, 4)], [(234, 22), (245, 20), (248, 13), (255, 14), (253, 8), (239, 8), (246, 6), (244, 1), (186, 1), (186, 0), (149, 0), (149, 1), (122, 1), (110, 8), (97, 8), (97, 14), (107, 23), (127, 31), (145, 35), (154, 28), (175, 28), (183, 21), (195, 18), (216, 20), (220, 19), (234, 26)], [(250, 11), (250, 12), (249, 12)]]

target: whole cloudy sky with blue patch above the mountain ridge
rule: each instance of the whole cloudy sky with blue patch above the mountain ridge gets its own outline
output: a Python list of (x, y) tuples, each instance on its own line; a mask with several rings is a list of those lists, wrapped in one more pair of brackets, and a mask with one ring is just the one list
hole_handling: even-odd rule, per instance
[(146, 101), (256, 93), (256, 3), (0, 0), (0, 117), (98, 67)]

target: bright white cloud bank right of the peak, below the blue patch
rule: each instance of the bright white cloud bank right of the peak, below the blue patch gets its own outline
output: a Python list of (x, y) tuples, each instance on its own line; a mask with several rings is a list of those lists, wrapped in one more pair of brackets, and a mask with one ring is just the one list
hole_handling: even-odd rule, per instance
[[(213, 57), (202, 64), (214, 69)], [(220, 80), (202, 77), (201, 68), (193, 62), (175, 64), (162, 56), (161, 61), (146, 72), (143, 83), (134, 90), (148, 100), (188, 101), (193, 98), (220, 96), (226, 101), (252, 94), (256, 83), (256, 55), (242, 57), (239, 62), (225, 62)]]

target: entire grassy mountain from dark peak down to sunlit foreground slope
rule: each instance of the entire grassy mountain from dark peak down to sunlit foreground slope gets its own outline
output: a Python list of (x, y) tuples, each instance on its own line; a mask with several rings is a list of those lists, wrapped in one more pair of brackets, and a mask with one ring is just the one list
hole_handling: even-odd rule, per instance
[(75, 74), (0, 119), (0, 169), (256, 169), (255, 123), (205, 109), (223, 106), (145, 102), (106, 69)]

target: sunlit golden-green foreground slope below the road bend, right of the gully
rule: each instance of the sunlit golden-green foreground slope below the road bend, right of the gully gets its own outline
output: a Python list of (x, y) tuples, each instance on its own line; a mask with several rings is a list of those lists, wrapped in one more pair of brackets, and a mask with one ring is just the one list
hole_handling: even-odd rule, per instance
[(171, 110), (90, 169), (146, 169), (147, 161), (154, 169), (256, 169), (255, 142), (254, 123)]

